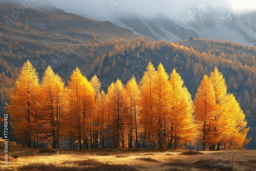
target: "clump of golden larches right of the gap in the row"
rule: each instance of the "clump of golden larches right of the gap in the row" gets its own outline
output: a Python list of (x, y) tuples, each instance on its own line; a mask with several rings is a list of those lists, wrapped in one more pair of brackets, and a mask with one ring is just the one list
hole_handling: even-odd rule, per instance
[(195, 122), (198, 125), (198, 141), (202, 149), (219, 150), (232, 147), (242, 148), (250, 140), (249, 131), (239, 103), (227, 93), (223, 75), (215, 68), (210, 77), (204, 76), (195, 97)]

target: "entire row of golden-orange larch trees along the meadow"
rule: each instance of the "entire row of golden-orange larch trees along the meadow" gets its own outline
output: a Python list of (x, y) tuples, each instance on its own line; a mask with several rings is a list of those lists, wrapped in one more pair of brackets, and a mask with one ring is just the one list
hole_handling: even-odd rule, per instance
[(69, 148), (242, 148), (249, 128), (239, 103), (221, 73), (204, 76), (195, 100), (174, 69), (168, 75), (151, 62), (139, 84), (121, 80), (101, 90), (97, 76), (88, 80), (76, 68), (68, 87), (51, 67), (39, 83), (27, 61), (20, 69), (6, 113), (15, 139), (28, 147), (69, 140)]

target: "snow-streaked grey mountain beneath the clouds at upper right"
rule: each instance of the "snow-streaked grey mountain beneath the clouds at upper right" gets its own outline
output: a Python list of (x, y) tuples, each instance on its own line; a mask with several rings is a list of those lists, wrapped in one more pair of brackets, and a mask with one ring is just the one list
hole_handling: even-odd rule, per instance
[(111, 22), (153, 39), (175, 41), (194, 36), (256, 46), (256, 12), (234, 12), (207, 4), (188, 7), (179, 17), (159, 11), (153, 13), (151, 17), (125, 16)]

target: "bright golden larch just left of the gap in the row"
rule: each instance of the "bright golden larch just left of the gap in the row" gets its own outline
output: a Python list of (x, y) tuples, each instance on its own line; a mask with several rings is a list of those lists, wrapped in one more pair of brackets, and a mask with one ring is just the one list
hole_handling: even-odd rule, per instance
[(174, 69), (170, 74), (170, 105), (167, 115), (168, 147), (177, 148), (193, 142), (196, 137), (194, 124), (194, 104), (181, 76)]

